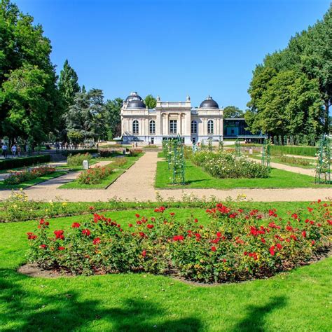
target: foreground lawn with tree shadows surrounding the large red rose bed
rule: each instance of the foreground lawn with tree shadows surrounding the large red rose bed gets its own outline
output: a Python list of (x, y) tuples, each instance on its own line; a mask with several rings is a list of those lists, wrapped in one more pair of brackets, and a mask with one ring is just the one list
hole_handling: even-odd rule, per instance
[[(201, 209), (172, 211), (205, 216)], [(107, 216), (135, 220), (133, 211)], [(67, 229), (88, 217), (50, 225)], [(34, 227), (0, 224), (1, 331), (331, 331), (332, 258), (271, 279), (208, 287), (148, 274), (32, 278), (16, 270), (26, 261), (25, 233)]]

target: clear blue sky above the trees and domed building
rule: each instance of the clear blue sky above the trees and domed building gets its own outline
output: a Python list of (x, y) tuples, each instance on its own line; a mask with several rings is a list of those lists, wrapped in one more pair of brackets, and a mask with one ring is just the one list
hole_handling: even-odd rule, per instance
[(266, 53), (321, 19), (329, 0), (17, 0), (43, 25), (57, 72), (107, 99), (137, 91), (193, 106), (212, 95), (245, 109)]

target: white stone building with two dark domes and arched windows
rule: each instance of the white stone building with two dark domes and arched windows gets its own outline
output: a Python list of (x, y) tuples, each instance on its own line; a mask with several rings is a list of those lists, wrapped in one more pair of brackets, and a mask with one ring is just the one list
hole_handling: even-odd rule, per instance
[(132, 92), (121, 109), (123, 141), (161, 144), (163, 139), (180, 136), (186, 144), (223, 139), (223, 110), (207, 97), (198, 108), (186, 102), (162, 102), (157, 97), (155, 109), (148, 109), (143, 99)]

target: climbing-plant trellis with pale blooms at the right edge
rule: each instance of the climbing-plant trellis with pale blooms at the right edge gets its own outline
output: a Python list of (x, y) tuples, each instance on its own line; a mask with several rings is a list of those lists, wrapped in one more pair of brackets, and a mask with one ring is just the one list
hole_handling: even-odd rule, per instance
[(316, 184), (331, 184), (331, 142), (325, 136), (319, 141), (314, 182)]

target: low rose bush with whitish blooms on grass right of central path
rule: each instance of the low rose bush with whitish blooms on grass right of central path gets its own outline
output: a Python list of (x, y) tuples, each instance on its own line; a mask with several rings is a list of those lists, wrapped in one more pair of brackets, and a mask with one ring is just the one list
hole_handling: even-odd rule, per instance
[(233, 153), (200, 151), (192, 154), (191, 160), (212, 177), (220, 179), (266, 178), (270, 172), (268, 167)]

